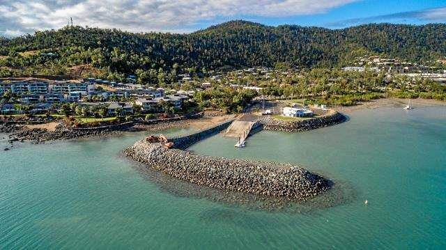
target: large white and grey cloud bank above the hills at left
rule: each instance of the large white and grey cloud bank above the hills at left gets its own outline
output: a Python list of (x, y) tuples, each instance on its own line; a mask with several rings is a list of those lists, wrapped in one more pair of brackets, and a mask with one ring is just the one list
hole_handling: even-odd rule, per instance
[(286, 17), (324, 13), (358, 0), (2, 0), (0, 34), (82, 26), (128, 31), (192, 31), (197, 22), (243, 16)]

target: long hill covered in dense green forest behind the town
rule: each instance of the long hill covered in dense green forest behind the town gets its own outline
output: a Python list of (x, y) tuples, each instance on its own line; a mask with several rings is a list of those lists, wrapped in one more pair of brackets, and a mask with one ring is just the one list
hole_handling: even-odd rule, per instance
[[(0, 66), (2, 75), (10, 73), (6, 69), (64, 73), (85, 64), (102, 74), (138, 73), (139, 69), (139, 74), (143, 70), (153, 75), (160, 69), (176, 74), (275, 63), (332, 67), (364, 54), (424, 63), (444, 58), (445, 38), (446, 24), (367, 24), (330, 30), (232, 21), (190, 34), (73, 26), (0, 39)], [(41, 56), (43, 52), (55, 55)]]

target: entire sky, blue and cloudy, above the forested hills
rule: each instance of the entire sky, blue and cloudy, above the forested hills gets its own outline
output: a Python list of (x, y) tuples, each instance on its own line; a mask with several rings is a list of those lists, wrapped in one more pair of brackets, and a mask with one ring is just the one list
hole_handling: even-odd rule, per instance
[(0, 0), (0, 36), (74, 25), (190, 33), (233, 19), (341, 29), (446, 22), (446, 0)]

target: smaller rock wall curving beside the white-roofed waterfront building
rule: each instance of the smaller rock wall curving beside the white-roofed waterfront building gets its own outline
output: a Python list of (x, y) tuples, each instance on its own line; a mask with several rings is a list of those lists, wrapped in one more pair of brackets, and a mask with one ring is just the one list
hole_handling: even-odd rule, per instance
[(263, 124), (263, 130), (275, 130), (284, 132), (302, 132), (307, 130), (314, 130), (319, 127), (328, 127), (343, 123), (346, 116), (329, 109), (327, 114), (315, 118), (307, 118), (302, 120), (279, 120), (276, 118), (263, 118), (260, 120)]

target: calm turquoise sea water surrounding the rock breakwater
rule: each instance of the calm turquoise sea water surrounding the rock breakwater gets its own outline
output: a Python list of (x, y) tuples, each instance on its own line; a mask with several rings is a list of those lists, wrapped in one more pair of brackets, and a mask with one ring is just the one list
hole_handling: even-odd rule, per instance
[(142, 135), (9, 151), (3, 139), (0, 249), (446, 247), (446, 107), (355, 111), (334, 127), (260, 132), (241, 150), (220, 135), (191, 148), (301, 164), (355, 190), (341, 205), (300, 213), (180, 194), (183, 182), (121, 155)]

